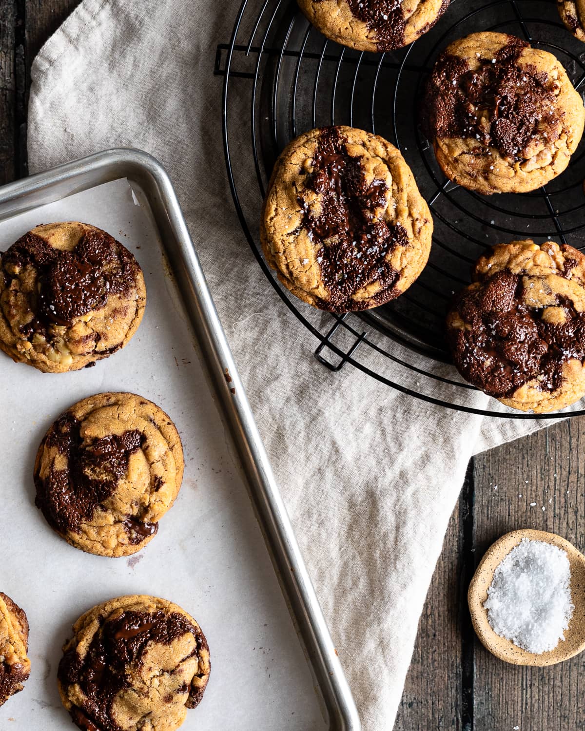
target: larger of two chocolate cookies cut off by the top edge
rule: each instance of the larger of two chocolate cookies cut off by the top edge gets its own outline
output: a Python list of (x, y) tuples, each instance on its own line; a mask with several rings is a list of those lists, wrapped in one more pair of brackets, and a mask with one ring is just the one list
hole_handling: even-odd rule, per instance
[(298, 0), (322, 34), (358, 50), (388, 51), (431, 29), (449, 0)]

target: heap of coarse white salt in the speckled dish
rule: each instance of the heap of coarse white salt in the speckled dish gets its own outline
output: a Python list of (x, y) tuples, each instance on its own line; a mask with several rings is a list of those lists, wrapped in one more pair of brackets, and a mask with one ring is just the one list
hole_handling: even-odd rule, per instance
[(500, 637), (537, 654), (554, 650), (575, 608), (567, 552), (523, 538), (495, 570), (483, 606)]

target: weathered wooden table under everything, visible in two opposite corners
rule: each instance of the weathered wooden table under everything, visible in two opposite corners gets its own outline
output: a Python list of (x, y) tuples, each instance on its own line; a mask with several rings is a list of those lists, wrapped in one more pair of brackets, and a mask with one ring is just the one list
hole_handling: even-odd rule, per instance
[[(0, 0), (0, 184), (28, 173), (31, 61), (76, 4)], [(585, 729), (585, 654), (550, 668), (499, 662), (476, 639), (466, 601), (475, 565), (507, 531), (554, 531), (585, 548), (584, 474), (585, 417), (486, 452), (469, 465), (420, 619), (396, 731)]]

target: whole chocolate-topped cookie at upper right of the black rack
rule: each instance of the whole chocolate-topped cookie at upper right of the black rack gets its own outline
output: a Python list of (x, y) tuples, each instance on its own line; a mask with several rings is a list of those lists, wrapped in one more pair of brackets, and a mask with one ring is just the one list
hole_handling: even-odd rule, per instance
[(532, 191), (562, 173), (584, 121), (559, 61), (503, 33), (451, 43), (423, 100), (423, 127), (443, 173), (484, 194)]

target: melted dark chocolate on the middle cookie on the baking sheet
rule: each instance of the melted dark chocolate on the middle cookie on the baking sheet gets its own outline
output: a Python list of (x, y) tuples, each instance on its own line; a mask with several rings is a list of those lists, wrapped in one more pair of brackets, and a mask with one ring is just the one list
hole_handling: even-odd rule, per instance
[[(59, 470), (52, 466), (45, 480), (38, 474), (34, 475), (37, 487), (35, 504), (49, 525), (61, 534), (80, 532), (81, 524), (91, 520), (94, 511), (126, 477), (130, 455), (142, 447), (143, 441), (143, 434), (132, 430), (119, 436), (104, 436), (82, 446), (80, 422), (69, 413), (59, 417), (40, 449), (56, 447), (67, 458), (67, 467)], [(135, 534), (140, 531), (140, 526), (155, 525), (140, 523), (133, 516), (130, 518), (136, 521), (131, 526)], [(145, 527), (144, 530), (150, 528)], [(140, 540), (135, 539), (135, 542)]]

